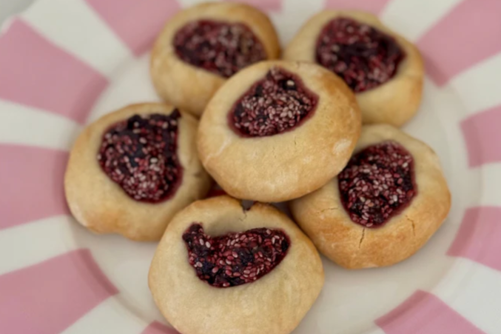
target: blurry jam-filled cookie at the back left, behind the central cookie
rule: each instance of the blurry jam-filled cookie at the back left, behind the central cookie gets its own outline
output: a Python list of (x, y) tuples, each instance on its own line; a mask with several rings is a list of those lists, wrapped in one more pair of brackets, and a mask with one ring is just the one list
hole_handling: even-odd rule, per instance
[(203, 3), (177, 13), (151, 53), (153, 85), (165, 101), (200, 116), (215, 91), (242, 68), (280, 56), (270, 19), (238, 3)]

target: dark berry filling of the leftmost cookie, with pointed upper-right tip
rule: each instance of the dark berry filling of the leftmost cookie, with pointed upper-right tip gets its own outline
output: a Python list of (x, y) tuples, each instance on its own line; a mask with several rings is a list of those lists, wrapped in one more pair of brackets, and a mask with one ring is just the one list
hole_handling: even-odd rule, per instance
[(104, 133), (97, 160), (133, 199), (156, 203), (176, 192), (182, 178), (176, 154), (179, 117), (177, 109), (170, 115), (134, 115)]

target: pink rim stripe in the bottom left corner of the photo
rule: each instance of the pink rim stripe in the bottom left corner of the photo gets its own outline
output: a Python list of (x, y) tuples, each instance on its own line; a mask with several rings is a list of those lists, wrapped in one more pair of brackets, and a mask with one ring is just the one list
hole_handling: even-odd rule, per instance
[(0, 276), (0, 333), (56, 334), (118, 290), (88, 249)]

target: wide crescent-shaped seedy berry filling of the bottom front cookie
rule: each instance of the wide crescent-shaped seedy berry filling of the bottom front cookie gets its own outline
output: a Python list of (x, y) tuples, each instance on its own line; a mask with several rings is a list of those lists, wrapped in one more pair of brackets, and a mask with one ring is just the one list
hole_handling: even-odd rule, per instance
[(291, 244), (282, 230), (253, 228), (211, 237), (199, 223), (184, 232), (189, 264), (198, 278), (215, 287), (254, 282), (272, 271)]

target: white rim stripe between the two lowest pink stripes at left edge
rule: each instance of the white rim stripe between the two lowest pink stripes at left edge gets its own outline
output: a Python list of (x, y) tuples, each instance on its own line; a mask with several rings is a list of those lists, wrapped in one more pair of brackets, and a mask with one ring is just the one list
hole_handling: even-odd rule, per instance
[(69, 216), (54, 216), (0, 230), (0, 275), (77, 248)]

